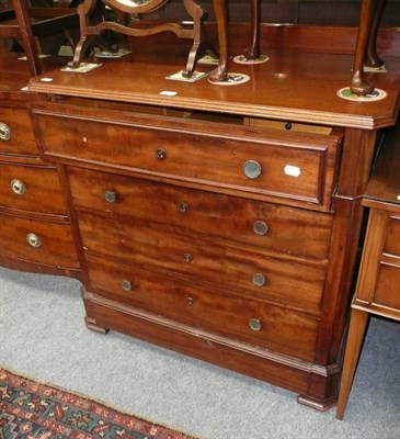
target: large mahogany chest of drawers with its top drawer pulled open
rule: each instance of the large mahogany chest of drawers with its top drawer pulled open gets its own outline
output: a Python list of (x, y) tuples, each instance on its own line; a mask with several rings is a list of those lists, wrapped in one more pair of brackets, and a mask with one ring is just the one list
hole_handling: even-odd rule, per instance
[[(310, 102), (260, 66), (245, 85), (217, 87), (169, 81), (179, 58), (160, 58), (149, 68), (138, 53), (31, 81), (49, 97), (32, 117), (68, 199), (87, 325), (327, 408), (338, 392), (359, 195), (399, 91), (385, 82), (384, 104), (366, 109), (336, 97), (346, 83), (338, 74)], [(285, 61), (295, 69), (296, 59)], [(343, 65), (338, 71), (348, 71)]]

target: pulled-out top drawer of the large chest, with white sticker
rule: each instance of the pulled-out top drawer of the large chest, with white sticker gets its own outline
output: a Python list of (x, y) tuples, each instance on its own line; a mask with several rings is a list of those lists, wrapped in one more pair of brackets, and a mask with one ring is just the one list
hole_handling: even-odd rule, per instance
[[(34, 110), (39, 146), (54, 159), (80, 160), (186, 184), (329, 210), (341, 137), (54, 105)], [(312, 207), (313, 206), (313, 207)]]

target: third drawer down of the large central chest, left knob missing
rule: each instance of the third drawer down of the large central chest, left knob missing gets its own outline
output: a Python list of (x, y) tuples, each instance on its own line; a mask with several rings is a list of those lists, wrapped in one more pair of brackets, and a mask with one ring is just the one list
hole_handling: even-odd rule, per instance
[(195, 239), (137, 219), (114, 221), (90, 213), (79, 213), (78, 218), (87, 252), (319, 313), (325, 279), (321, 262), (219, 246), (213, 239)]

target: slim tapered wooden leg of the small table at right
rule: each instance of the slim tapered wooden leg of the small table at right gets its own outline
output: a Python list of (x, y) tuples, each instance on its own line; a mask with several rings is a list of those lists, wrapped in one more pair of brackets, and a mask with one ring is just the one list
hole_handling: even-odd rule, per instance
[(366, 313), (365, 311), (354, 308), (352, 309), (346, 351), (344, 354), (342, 381), (336, 407), (338, 419), (343, 419), (344, 410), (347, 405), (348, 394), (352, 387), (355, 369), (359, 358), (368, 316), (368, 313)]

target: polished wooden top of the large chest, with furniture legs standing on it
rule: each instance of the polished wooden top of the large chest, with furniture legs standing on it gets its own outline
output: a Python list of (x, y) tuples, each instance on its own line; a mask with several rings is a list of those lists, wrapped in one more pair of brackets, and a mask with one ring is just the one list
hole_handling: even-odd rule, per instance
[[(385, 99), (354, 102), (336, 94), (348, 85), (351, 55), (279, 49), (267, 50), (266, 55), (270, 59), (264, 64), (230, 63), (230, 72), (247, 75), (250, 80), (220, 86), (210, 83), (207, 78), (195, 82), (167, 79), (184, 66), (186, 50), (182, 47), (137, 45), (123, 58), (94, 59), (101, 66), (85, 74), (66, 72), (60, 68), (48, 71), (33, 78), (30, 89), (330, 126), (375, 130), (393, 125), (399, 111), (399, 58), (387, 60), (389, 72), (374, 75), (376, 88), (387, 92)], [(213, 68), (197, 65), (196, 69), (210, 71)]]

